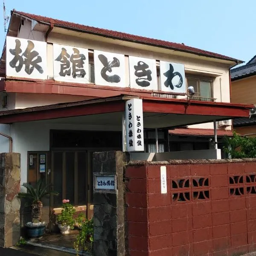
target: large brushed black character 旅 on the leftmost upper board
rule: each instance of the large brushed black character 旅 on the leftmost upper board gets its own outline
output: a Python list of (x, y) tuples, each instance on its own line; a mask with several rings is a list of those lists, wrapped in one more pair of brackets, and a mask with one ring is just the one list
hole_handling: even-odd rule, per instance
[[(32, 49), (34, 49), (35, 47), (34, 43), (28, 40), (28, 45), (22, 55), (20, 55), (20, 53), (22, 52), (22, 50), (20, 49), (20, 46), (21, 46), (20, 40), (16, 39), (15, 49), (9, 49), (11, 54), (14, 55), (14, 58), (12, 59), (12, 61), (9, 62), (10, 67), (15, 68), (16, 72), (20, 72), (24, 64), (25, 72), (28, 75), (31, 75), (34, 69), (38, 70), (40, 74), (44, 73), (44, 70), (38, 64), (42, 62), (41, 56), (39, 56), (39, 53), (37, 51), (32, 51)], [(24, 56), (25, 58), (23, 59), (22, 56)]]

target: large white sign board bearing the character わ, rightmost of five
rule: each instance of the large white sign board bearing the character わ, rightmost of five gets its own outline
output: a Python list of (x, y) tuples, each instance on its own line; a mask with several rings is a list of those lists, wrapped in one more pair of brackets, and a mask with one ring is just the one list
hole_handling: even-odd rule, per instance
[(161, 90), (186, 93), (185, 69), (183, 64), (160, 61)]

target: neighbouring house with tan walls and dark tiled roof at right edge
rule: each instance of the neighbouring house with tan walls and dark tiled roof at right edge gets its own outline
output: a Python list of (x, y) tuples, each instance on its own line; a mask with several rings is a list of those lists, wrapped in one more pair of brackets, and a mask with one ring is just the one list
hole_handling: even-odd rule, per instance
[[(256, 55), (237, 68), (230, 70), (231, 101), (256, 105)], [(256, 118), (238, 118), (233, 120), (234, 130), (243, 135), (256, 136)]]

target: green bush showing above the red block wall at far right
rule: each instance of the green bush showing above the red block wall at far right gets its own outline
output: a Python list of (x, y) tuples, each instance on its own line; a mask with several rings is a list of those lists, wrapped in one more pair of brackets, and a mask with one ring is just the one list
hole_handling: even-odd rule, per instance
[(256, 157), (256, 138), (242, 137), (233, 132), (233, 137), (223, 138), (224, 152), (231, 158), (254, 158)]

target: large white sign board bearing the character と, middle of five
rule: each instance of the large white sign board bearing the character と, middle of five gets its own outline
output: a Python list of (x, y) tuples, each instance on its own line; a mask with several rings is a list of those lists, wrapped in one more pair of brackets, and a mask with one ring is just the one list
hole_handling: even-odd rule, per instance
[(125, 87), (125, 55), (94, 51), (95, 84)]

